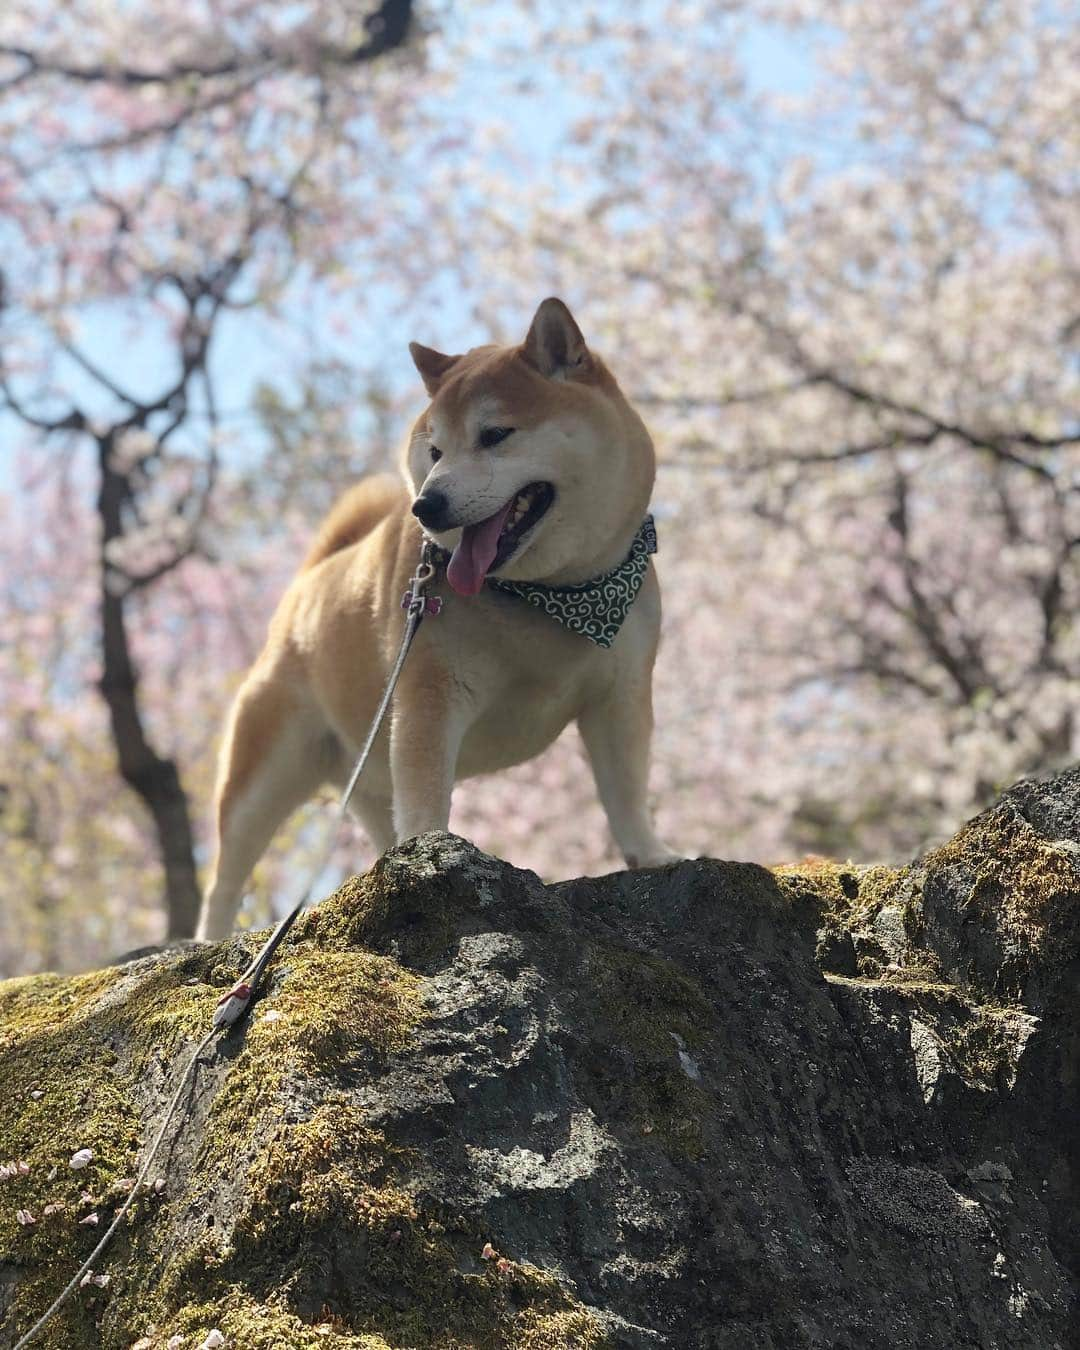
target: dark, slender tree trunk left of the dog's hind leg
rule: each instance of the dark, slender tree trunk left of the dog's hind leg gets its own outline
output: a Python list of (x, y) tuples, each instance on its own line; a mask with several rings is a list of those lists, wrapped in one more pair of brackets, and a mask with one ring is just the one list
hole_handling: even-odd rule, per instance
[(99, 683), (109, 710), (112, 738), (124, 782), (143, 799), (154, 819), (158, 850), (165, 867), (167, 937), (192, 937), (198, 919), (198, 876), (194, 865), (188, 794), (176, 761), (162, 759), (150, 745), (139, 713), (139, 676), (131, 659), (124, 610), (126, 594), (113, 593), (107, 549), (123, 536), (123, 505), (130, 497), (126, 477), (109, 463), (111, 443), (99, 443), (101, 489), (101, 655)]

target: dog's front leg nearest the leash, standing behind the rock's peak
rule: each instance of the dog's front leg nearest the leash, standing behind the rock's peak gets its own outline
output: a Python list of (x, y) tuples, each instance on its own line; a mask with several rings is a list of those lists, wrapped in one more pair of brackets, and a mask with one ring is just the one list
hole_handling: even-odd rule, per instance
[(394, 694), (390, 779), (398, 844), (450, 825), (450, 798), (464, 734), (452, 682), (428, 652), (413, 648)]

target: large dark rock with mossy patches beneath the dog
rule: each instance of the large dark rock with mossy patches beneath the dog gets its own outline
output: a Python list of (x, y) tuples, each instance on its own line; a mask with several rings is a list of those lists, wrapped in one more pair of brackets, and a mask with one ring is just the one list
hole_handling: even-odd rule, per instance
[[(909, 868), (416, 840), (297, 926), (40, 1343), (1065, 1350), (1079, 895), (1077, 774)], [(0, 986), (0, 1343), (255, 945)]]

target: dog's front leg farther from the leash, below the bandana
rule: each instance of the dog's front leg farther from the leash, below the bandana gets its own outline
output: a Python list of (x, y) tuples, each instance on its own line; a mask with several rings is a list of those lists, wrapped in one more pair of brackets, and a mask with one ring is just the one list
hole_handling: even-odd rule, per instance
[(652, 687), (649, 672), (620, 680), (605, 698), (587, 705), (578, 728), (589, 752), (599, 799), (628, 867), (678, 863), (657, 837), (648, 807)]

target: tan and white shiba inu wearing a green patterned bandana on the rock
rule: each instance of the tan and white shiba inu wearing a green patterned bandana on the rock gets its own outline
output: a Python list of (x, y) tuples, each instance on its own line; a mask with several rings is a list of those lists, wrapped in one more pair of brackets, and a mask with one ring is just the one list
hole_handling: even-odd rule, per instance
[(339, 501), (232, 707), (200, 938), (231, 930), (278, 825), (347, 780), (424, 533), (446, 551), (429, 593), (441, 612), (416, 636), (351, 803), (375, 846), (444, 830), (458, 779), (528, 760), (576, 721), (626, 863), (676, 857), (647, 805), (660, 593), (641, 418), (560, 300), (517, 347), (410, 351), (431, 404), (404, 482), (364, 479)]

